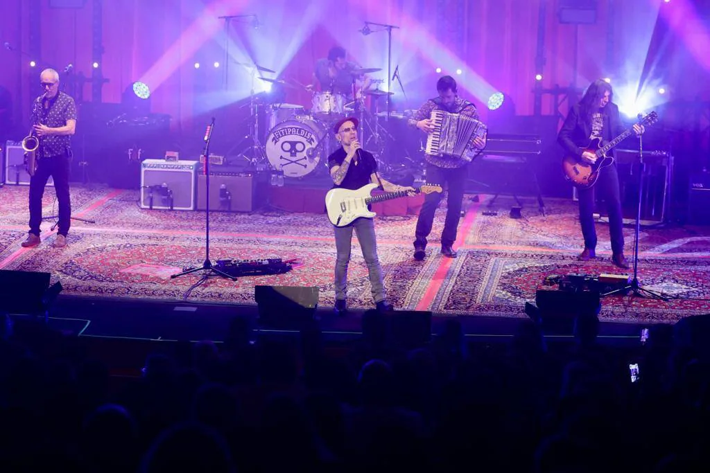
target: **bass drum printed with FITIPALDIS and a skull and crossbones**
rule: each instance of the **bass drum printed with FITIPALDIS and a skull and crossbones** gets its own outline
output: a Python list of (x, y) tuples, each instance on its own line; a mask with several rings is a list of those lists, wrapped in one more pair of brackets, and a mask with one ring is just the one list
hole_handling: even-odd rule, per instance
[(286, 177), (304, 177), (320, 162), (327, 132), (310, 116), (279, 123), (266, 136), (266, 157)]

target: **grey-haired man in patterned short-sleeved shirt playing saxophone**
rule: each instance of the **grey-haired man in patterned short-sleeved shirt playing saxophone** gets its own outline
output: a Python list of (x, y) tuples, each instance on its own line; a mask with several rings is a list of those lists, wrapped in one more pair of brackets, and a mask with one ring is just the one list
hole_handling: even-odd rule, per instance
[(39, 144), (35, 150), (36, 169), (34, 173), (30, 172), (30, 230), (22, 246), (33, 247), (40, 243), (42, 196), (51, 176), (59, 202), (59, 228), (52, 246), (61, 248), (67, 245), (72, 213), (69, 165), (71, 136), (77, 125), (77, 106), (72, 97), (59, 90), (59, 74), (54, 69), (42, 71), (40, 85), (45, 93), (33, 102), (32, 113), (32, 134)]

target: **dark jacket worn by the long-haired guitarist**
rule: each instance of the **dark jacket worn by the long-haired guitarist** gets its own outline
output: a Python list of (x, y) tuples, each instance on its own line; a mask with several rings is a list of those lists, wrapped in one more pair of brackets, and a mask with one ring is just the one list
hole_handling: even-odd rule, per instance
[[(619, 108), (616, 104), (609, 102), (606, 104), (606, 113), (603, 114), (604, 126), (602, 130), (602, 142), (616, 138), (623, 133), (623, 125), (619, 116)], [(579, 113), (579, 104), (572, 106), (567, 113), (562, 128), (557, 134), (557, 143), (562, 145), (564, 151), (570, 155), (581, 157), (582, 148), (589, 145), (589, 135), (591, 135), (591, 123), (588, 123)]]

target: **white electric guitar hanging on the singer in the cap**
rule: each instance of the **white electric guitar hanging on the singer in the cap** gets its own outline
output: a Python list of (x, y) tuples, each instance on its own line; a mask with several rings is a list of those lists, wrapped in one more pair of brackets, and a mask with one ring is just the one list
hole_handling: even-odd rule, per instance
[[(335, 188), (330, 189), (325, 195), (325, 207), (328, 210), (328, 218), (330, 223), (337, 227), (349, 225), (356, 218), (365, 217), (373, 218), (377, 214), (368, 210), (368, 204), (375, 202), (388, 201), (390, 199), (398, 199), (405, 197), (412, 191), (396, 191), (371, 196), (373, 189), (377, 189), (377, 184), (366, 184), (356, 191), (350, 189)], [(422, 192), (423, 194), (431, 194), (432, 192), (441, 192), (441, 186), (424, 184), (415, 193)]]

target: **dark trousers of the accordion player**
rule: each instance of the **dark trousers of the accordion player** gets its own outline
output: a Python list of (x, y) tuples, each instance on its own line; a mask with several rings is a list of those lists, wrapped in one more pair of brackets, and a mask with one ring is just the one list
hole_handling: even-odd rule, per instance
[[(444, 169), (427, 164), (426, 171), (427, 184), (438, 184), (442, 187), (444, 184), (448, 184), (449, 197), (447, 199), (446, 221), (444, 221), (441, 243), (442, 246), (451, 246), (456, 241), (457, 228), (459, 226), (459, 219), (461, 218), (461, 205), (464, 201), (464, 184), (466, 184), (468, 165), (454, 169)], [(429, 236), (432, 231), (434, 213), (441, 199), (442, 194), (438, 192), (432, 192), (425, 197), (424, 205), (419, 212), (419, 219), (417, 220), (416, 238), (414, 240), (415, 247), (427, 246), (427, 236)]]

